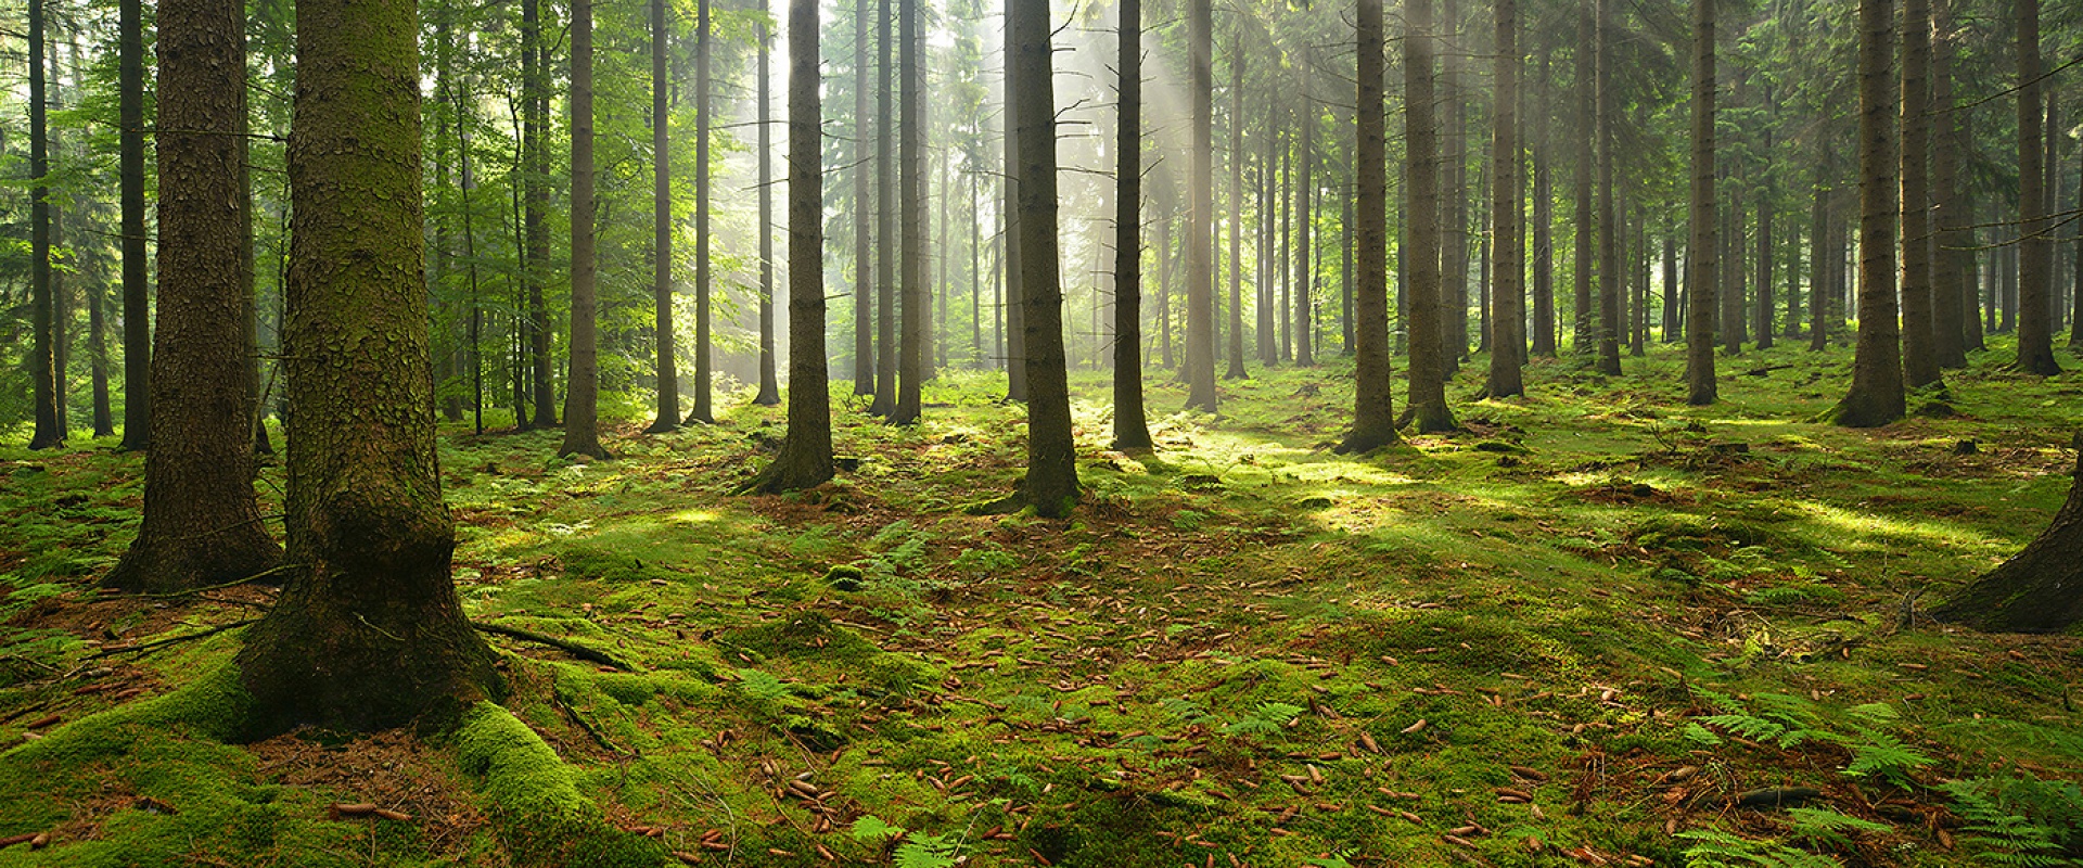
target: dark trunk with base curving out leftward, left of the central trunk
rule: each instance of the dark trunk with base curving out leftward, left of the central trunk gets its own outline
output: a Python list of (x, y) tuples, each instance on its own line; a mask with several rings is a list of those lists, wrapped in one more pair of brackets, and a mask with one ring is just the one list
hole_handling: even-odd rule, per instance
[(825, 379), (825, 177), (817, 40), (817, 0), (789, 0), (787, 435), (781, 437), (781, 454), (773, 464), (746, 483), (746, 491), (760, 493), (817, 487), (833, 473), (831, 389)]

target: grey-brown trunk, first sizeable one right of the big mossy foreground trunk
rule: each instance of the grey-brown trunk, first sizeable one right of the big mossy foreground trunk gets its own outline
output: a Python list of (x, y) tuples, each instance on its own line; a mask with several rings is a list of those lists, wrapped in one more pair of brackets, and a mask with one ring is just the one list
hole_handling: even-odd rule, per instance
[[(564, 387), (564, 443), (556, 448), (558, 456), (608, 458), (608, 450), (600, 448), (596, 269), (594, 0), (571, 0), (571, 385)], [(698, 368), (696, 377), (700, 375)]]

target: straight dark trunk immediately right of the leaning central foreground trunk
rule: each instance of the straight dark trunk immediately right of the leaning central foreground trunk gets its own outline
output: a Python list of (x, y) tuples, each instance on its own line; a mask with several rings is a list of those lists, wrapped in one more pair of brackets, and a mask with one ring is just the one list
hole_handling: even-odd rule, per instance
[(1144, 2), (1121, 0), (1121, 58), (1114, 71), (1121, 121), (1114, 127), (1114, 448), (1148, 450), (1144, 418)]

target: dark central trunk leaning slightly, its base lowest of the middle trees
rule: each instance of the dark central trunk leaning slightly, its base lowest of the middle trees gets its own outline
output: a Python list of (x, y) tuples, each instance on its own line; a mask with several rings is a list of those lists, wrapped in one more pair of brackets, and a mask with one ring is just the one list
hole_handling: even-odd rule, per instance
[[(1202, 0), (1204, 2), (1204, 0)], [(1206, 12), (1206, 6), (1200, 6)], [(1044, 518), (1077, 506), (1077, 450), (1062, 356), (1062, 285), (1056, 250), (1056, 85), (1048, 4), (1017, 2), (1008, 12), (1014, 52), (1012, 123), (1021, 139), (1021, 304), (1027, 308), (1027, 481), (1019, 497)], [(1206, 164), (1202, 167), (1206, 169)], [(1206, 179), (1202, 175), (1202, 179)], [(1206, 196), (1206, 192), (1202, 192)], [(1206, 289), (1206, 287), (1204, 287)], [(1212, 341), (1208, 343), (1212, 348)], [(1214, 377), (1212, 358), (1208, 377)]]

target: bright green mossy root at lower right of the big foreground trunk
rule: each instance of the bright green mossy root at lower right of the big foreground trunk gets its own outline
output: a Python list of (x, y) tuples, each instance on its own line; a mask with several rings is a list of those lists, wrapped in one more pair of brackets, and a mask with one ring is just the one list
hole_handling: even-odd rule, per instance
[(519, 864), (662, 866), (664, 849), (608, 824), (573, 770), (504, 708), (481, 701), (456, 731), (456, 762), (477, 778), (500, 841)]

